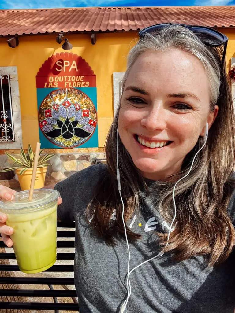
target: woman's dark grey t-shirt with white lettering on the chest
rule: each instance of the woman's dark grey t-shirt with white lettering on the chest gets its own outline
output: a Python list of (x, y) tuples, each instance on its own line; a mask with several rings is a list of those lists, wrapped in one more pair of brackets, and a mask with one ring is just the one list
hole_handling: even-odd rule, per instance
[[(85, 210), (93, 197), (106, 165), (88, 167), (55, 186), (63, 199), (58, 218), (76, 222), (75, 286), (80, 313), (118, 313), (127, 291), (128, 249), (125, 240), (108, 246), (97, 237)], [(235, 219), (234, 195), (228, 212)], [(112, 214), (115, 219), (115, 212)], [(155, 231), (169, 231), (148, 196), (143, 194), (141, 210), (127, 223), (142, 235), (130, 246), (130, 269), (156, 253)], [(205, 266), (202, 256), (182, 262), (164, 254), (133, 271), (132, 294), (125, 313), (233, 313), (235, 307), (235, 255), (219, 267)]]

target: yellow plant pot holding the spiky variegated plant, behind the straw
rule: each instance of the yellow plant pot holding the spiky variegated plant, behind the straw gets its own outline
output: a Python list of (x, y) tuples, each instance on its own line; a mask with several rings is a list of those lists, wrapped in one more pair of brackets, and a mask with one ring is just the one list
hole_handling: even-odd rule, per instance
[[(20, 188), (21, 190), (29, 190), (33, 168), (28, 168), (22, 175), (19, 174), (20, 171), (21, 171), (21, 168), (18, 168), (17, 170), (15, 170), (15, 173), (17, 174), (18, 181), (20, 184)], [(46, 172), (47, 172), (47, 166), (37, 168), (34, 189), (44, 187)]]

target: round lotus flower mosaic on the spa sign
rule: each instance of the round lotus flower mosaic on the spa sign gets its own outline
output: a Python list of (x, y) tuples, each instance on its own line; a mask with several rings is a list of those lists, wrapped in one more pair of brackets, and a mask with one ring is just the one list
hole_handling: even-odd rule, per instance
[(39, 107), (39, 126), (46, 138), (60, 147), (74, 148), (95, 131), (97, 112), (91, 99), (80, 90), (52, 91)]

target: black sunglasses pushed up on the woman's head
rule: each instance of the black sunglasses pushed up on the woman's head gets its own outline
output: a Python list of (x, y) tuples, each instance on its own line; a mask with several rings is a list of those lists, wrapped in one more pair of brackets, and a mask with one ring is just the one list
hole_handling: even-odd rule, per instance
[(144, 38), (146, 33), (153, 33), (157, 30), (160, 30), (161, 28), (164, 28), (167, 25), (179, 25), (179, 26), (190, 29), (193, 33), (195, 33), (198, 36), (198, 38), (206, 46), (219, 47), (219, 46), (224, 45), (223, 57), (221, 61), (221, 68), (223, 67), (226, 50), (227, 50), (228, 38), (227, 36), (218, 32), (217, 30), (213, 28), (204, 27), (204, 26), (185, 25), (185, 24), (161, 23), (161, 24), (156, 24), (156, 25), (152, 25), (144, 29), (141, 29), (141, 31), (139, 32), (139, 38), (142, 39)]

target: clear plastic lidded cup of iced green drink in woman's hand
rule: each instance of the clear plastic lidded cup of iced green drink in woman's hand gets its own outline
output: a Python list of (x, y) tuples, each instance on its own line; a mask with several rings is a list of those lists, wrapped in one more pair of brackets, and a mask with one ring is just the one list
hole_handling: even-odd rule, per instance
[(54, 189), (16, 192), (13, 201), (1, 200), (0, 211), (8, 217), (6, 224), (14, 229), (13, 241), (19, 269), (39, 273), (56, 261), (56, 209), (60, 193)]

